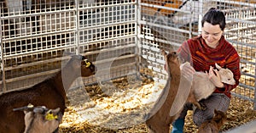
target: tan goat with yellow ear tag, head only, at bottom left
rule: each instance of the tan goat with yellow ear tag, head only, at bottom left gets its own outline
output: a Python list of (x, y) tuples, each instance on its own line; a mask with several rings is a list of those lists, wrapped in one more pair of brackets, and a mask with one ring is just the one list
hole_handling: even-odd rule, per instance
[(26, 129), (24, 133), (52, 133), (60, 125), (62, 114), (60, 108), (48, 109), (44, 106), (34, 107), (32, 104), (14, 111), (24, 111)]

